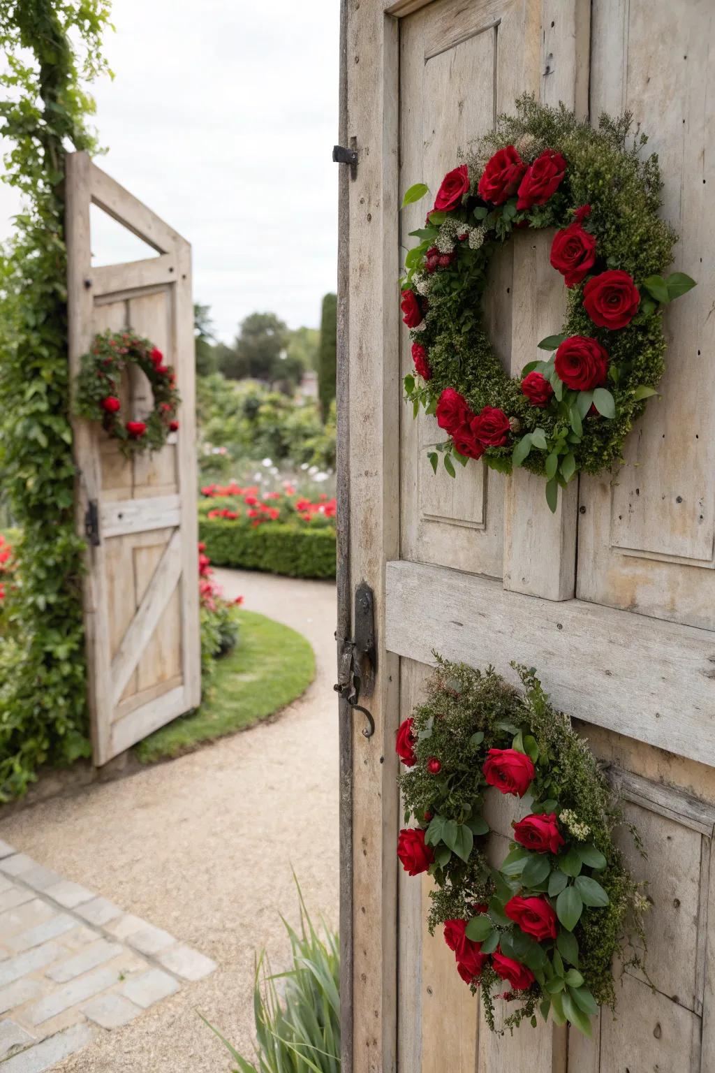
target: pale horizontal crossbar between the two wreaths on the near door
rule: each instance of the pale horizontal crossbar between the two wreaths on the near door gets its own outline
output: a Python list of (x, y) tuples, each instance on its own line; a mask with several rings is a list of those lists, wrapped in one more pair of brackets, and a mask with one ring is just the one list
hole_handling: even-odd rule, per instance
[[(386, 567), (385, 644), (473, 666), (536, 666), (584, 722), (715, 766), (715, 635), (582, 600), (505, 592), (502, 582), (417, 562)], [(426, 633), (424, 622), (430, 623)]]

